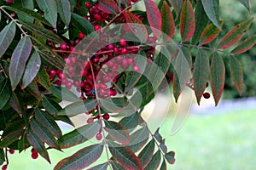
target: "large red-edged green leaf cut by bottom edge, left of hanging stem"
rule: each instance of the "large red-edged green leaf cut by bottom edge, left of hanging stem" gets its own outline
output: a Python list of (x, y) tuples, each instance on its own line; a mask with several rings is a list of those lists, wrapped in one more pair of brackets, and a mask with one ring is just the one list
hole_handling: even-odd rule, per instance
[(54, 170), (84, 169), (95, 162), (102, 155), (102, 151), (103, 144), (90, 145), (58, 162)]

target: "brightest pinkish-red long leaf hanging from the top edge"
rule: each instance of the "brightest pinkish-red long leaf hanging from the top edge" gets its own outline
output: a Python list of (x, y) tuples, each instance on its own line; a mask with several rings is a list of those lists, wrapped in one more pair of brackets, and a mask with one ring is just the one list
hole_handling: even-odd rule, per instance
[(160, 30), (162, 26), (162, 18), (159, 9), (153, 0), (144, 0), (148, 23), (151, 26), (152, 31), (154, 32), (154, 37), (160, 37)]

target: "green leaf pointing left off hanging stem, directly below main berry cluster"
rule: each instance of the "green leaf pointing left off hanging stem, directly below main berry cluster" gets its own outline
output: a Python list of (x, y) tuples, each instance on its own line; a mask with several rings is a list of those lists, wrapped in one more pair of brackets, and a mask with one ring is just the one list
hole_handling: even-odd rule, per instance
[(84, 101), (77, 101), (73, 104), (67, 105), (63, 110), (58, 112), (58, 116), (77, 116), (81, 113), (86, 113), (92, 111), (97, 105), (97, 101), (93, 99), (88, 99)]

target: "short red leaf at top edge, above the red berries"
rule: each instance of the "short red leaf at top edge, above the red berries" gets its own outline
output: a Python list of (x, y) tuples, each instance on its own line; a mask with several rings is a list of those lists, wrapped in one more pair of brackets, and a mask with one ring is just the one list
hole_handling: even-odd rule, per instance
[(113, 0), (99, 0), (96, 3), (96, 8), (101, 9), (104, 13), (117, 14), (119, 13), (119, 7)]

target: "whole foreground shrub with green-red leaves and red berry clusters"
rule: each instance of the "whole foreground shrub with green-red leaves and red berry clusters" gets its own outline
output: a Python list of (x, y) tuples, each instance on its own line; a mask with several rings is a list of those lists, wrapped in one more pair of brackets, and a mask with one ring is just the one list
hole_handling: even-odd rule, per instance
[[(248, 9), (249, 1), (240, 0)], [(154, 96), (177, 100), (186, 87), (200, 105), (208, 85), (218, 105), (226, 67), (241, 94), (236, 55), (253, 18), (224, 32), (218, 0), (0, 1), (0, 164), (28, 150), (50, 162), (48, 150), (94, 144), (55, 169), (166, 169), (175, 161), (159, 129), (141, 116)], [(143, 9), (143, 8), (145, 9)], [(136, 10), (134, 9), (136, 8)], [(224, 59), (229, 64), (224, 65)], [(61, 101), (69, 104), (61, 107)], [(86, 116), (83, 126), (71, 118)], [(76, 127), (62, 134), (57, 121)], [(95, 140), (93, 140), (95, 139)], [(93, 164), (102, 153), (106, 161)], [(6, 163), (4, 163), (6, 161)]]

